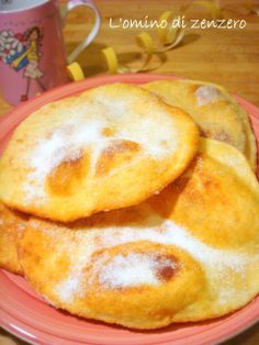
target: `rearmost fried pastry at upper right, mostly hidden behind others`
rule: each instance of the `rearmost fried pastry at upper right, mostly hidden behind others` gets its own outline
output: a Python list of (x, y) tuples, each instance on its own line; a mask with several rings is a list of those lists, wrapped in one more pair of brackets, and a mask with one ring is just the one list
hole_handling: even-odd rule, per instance
[(204, 137), (225, 142), (257, 168), (256, 138), (246, 111), (221, 86), (194, 80), (158, 80), (143, 86), (165, 102), (185, 110)]

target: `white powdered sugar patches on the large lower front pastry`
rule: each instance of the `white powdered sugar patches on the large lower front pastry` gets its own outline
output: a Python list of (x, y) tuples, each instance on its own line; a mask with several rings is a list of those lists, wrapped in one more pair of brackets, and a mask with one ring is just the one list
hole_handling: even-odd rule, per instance
[[(202, 265), (204, 274), (209, 278), (207, 281), (212, 287), (214, 281), (218, 281), (218, 279), (228, 279), (229, 271), (237, 274), (240, 279), (246, 278), (246, 266), (251, 259), (246, 253), (234, 249), (213, 248), (191, 235), (188, 230), (179, 226), (174, 222), (164, 220), (151, 212), (149, 213), (145, 208), (142, 212), (144, 219), (143, 223), (133, 222), (128, 224), (128, 226), (113, 225), (77, 231), (76, 237), (69, 243), (71, 253), (77, 253), (76, 256), (74, 255), (74, 257), (71, 257), (69, 277), (55, 288), (57, 296), (64, 298), (64, 302), (72, 301), (75, 297), (82, 294), (83, 289), (87, 289), (83, 283), (83, 277), (78, 272), (83, 271), (85, 267), (91, 261), (91, 255), (94, 252), (140, 241), (149, 241), (165, 245), (171, 244), (184, 249)], [(60, 236), (56, 230), (47, 231), (47, 233), (54, 237)], [(63, 246), (63, 241), (60, 241), (59, 245)], [(67, 247), (66, 242), (64, 245)], [(258, 260), (258, 257), (255, 257), (255, 260)], [(80, 261), (80, 264), (77, 266), (78, 261)], [(99, 264), (95, 263), (95, 271), (101, 271), (100, 283), (111, 289), (117, 286), (125, 288), (140, 286), (142, 283), (162, 283), (162, 281), (154, 276), (154, 264), (147, 261), (147, 258), (144, 256), (133, 255), (128, 260), (119, 256), (115, 261), (112, 261), (108, 266), (102, 266), (103, 261), (105, 261), (105, 259), (101, 259)], [(137, 267), (131, 267), (131, 264), (136, 261), (138, 263)], [(76, 266), (77, 269), (75, 269)], [(79, 277), (79, 279), (77, 279), (77, 286), (70, 289), (71, 280), (69, 279), (72, 277)], [(60, 293), (60, 289), (69, 290), (70, 293)], [(224, 296), (224, 290), (225, 287), (222, 286), (218, 292), (218, 303), (223, 303), (222, 296)], [(238, 289), (235, 289), (235, 291), (238, 292)]]

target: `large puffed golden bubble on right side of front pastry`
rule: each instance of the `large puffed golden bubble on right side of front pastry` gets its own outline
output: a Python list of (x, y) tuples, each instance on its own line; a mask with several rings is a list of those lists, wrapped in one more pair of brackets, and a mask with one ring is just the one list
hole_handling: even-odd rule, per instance
[(244, 155), (228, 144), (201, 140), (188, 170), (150, 202), (212, 246), (241, 247), (259, 238), (259, 185)]

